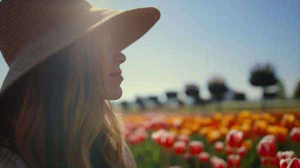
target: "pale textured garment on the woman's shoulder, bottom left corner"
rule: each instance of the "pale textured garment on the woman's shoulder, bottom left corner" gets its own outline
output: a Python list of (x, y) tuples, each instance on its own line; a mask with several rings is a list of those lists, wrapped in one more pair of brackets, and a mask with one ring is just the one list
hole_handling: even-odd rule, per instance
[(0, 136), (0, 168), (26, 168), (22, 159), (8, 149), (11, 145), (7, 139)]

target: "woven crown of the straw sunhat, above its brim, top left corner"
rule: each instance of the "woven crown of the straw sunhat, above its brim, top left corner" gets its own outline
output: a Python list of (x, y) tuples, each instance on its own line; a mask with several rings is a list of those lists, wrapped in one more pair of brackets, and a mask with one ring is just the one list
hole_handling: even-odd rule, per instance
[(15, 55), (31, 40), (57, 22), (87, 13), (87, 0), (0, 1), (0, 51), (9, 66)]

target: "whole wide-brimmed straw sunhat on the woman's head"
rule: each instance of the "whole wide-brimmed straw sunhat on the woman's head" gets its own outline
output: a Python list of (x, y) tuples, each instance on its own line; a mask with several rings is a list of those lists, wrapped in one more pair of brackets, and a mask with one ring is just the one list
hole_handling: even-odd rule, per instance
[(0, 1), (0, 51), (9, 70), (0, 97), (19, 77), (93, 30), (108, 28), (122, 50), (160, 18), (154, 7), (95, 8), (86, 0)]

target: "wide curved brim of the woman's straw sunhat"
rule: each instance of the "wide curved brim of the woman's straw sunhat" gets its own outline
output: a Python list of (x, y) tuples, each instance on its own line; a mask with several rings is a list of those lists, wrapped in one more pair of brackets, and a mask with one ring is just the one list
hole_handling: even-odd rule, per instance
[(111, 41), (123, 50), (143, 36), (160, 18), (154, 7), (126, 11), (91, 8), (85, 16), (74, 16), (40, 34), (15, 56), (0, 89), (0, 97), (33, 67), (88, 33), (108, 27)]

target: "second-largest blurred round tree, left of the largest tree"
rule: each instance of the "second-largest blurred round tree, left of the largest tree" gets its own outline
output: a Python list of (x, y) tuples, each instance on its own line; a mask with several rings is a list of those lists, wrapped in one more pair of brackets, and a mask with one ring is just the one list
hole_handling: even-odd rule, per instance
[(215, 98), (217, 102), (219, 102), (219, 106), (217, 107), (218, 111), (221, 110), (221, 101), (223, 100), (223, 96), (228, 90), (225, 80), (222, 77), (213, 77), (208, 81), (208, 90), (212, 95), (212, 98)]

